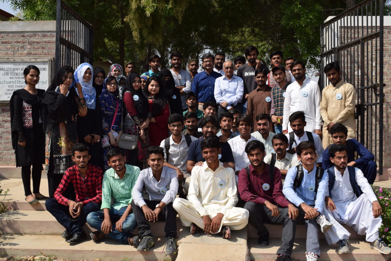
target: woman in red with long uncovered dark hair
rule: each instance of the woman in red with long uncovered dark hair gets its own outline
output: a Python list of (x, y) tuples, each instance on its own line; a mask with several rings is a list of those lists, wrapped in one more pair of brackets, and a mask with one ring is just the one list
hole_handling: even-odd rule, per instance
[(149, 102), (149, 111), (152, 112), (149, 123), (149, 140), (151, 146), (159, 146), (160, 142), (168, 137), (167, 120), (170, 116), (165, 88), (159, 77), (151, 76), (147, 80), (145, 94)]

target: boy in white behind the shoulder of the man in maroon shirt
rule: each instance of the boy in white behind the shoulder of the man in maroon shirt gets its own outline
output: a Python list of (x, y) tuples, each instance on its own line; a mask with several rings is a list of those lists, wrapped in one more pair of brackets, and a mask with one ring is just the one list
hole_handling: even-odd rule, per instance
[(228, 141), (230, 144), (233, 159), (235, 160), (235, 174), (239, 175), (240, 170), (244, 169), (250, 164), (244, 148), (252, 140), (258, 140), (251, 136), (251, 126), (253, 126), (253, 118), (248, 114), (242, 114), (238, 118), (239, 120), (239, 136)]

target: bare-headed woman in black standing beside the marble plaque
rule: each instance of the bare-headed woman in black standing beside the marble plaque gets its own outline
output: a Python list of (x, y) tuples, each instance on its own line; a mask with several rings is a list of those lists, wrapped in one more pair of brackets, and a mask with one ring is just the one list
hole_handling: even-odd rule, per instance
[[(11, 114), (12, 147), (15, 150), (16, 167), (22, 167), (22, 181), (26, 201), (31, 205), (39, 199), (48, 199), (39, 193), (42, 164), (45, 163), (45, 133), (42, 130), (40, 112), (45, 90), (36, 89), (39, 69), (34, 65), (23, 71), (26, 87), (14, 91), (9, 101)], [(32, 193), (30, 167), (32, 165)]]

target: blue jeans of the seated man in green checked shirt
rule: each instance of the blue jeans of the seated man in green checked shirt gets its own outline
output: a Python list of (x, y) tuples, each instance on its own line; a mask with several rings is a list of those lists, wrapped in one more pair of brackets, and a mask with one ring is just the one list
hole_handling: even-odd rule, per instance
[[(126, 208), (127, 207), (123, 207), (120, 208), (120, 210), (117, 210), (115, 208), (110, 208), (109, 211), (111, 225), (113, 226), (112, 228), (113, 231), (109, 232), (107, 236), (121, 242), (122, 244), (127, 244), (127, 238), (133, 235), (131, 232), (137, 226), (135, 215), (131, 213), (126, 217), (124, 223), (122, 224), (122, 232), (119, 232), (117, 229), (115, 229), (115, 223), (117, 223), (117, 221), (122, 217)], [(102, 232), (100, 227), (102, 226), (103, 220), (104, 220), (103, 210), (91, 212), (87, 216), (87, 223), (91, 227), (98, 230), (99, 232)]]

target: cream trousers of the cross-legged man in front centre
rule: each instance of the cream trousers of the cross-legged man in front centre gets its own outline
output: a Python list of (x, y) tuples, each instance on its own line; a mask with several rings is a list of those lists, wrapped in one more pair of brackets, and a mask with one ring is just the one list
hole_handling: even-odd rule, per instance
[[(198, 214), (197, 210), (193, 207), (193, 204), (187, 199), (176, 198), (174, 203), (172, 203), (172, 207), (178, 212), (183, 226), (190, 227), (190, 225), (194, 223), (200, 228), (204, 227), (203, 217)], [(209, 217), (212, 219), (224, 206), (212, 204), (204, 207), (208, 210)], [(229, 210), (224, 210), (224, 212), (225, 215), (222, 218), (217, 233), (220, 232), (222, 226), (229, 226), (232, 230), (239, 230), (246, 227), (249, 216), (248, 210), (233, 207)]]

